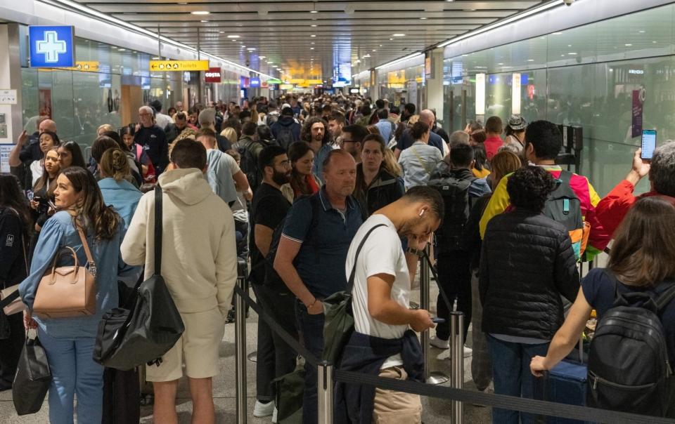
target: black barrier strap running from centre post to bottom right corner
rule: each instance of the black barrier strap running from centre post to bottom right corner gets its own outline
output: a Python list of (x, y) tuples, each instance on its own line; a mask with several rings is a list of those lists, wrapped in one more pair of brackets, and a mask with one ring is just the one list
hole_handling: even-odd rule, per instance
[(481, 404), (493, 406), (495, 408), (513, 409), (536, 415), (548, 415), (562, 418), (572, 418), (576, 420), (590, 420), (596, 423), (621, 423), (621, 424), (673, 424), (675, 420), (669, 418), (659, 418), (655, 416), (636, 415), (634, 413), (609, 411), (606, 409), (587, 408), (585, 406), (575, 406), (567, 404), (558, 404), (555, 402), (544, 402), (534, 399), (523, 399), (522, 397), (506, 395), (488, 395), (482, 392), (472, 392), (470, 390), (460, 390), (452, 387), (418, 383), (416, 381), (403, 381), (394, 378), (383, 378), (371, 376), (368, 374), (356, 373), (354, 371), (334, 371), (335, 381), (344, 383), (357, 383), (373, 385), (397, 392), (414, 393), (428, 397), (438, 397), (441, 399), (457, 400), (472, 404)]

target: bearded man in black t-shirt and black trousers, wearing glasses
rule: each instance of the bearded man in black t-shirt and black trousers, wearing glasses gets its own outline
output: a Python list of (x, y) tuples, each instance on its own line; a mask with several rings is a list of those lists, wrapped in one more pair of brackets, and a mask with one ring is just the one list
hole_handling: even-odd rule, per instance
[[(293, 293), (278, 278), (271, 265), (266, 265), (267, 253), (274, 230), (283, 224), (290, 202), (281, 194), (281, 186), (290, 180), (290, 161), (283, 147), (268, 146), (259, 154), (258, 166), (262, 184), (251, 204), (251, 281), (255, 296), (288, 333), (297, 337)], [(295, 352), (258, 319), (258, 355), (256, 363), (256, 395), (253, 415), (264, 417), (274, 412), (274, 387), (271, 380), (295, 369)], [(276, 422), (276, 417), (273, 417)]]

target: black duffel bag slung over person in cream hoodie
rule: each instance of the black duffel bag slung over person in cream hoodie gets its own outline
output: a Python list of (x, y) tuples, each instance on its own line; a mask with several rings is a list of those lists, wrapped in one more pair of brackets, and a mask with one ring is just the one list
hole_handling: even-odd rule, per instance
[(98, 324), (94, 361), (127, 371), (159, 362), (181, 337), (185, 326), (161, 276), (162, 189), (155, 186), (155, 273), (136, 284), (131, 307), (116, 307)]

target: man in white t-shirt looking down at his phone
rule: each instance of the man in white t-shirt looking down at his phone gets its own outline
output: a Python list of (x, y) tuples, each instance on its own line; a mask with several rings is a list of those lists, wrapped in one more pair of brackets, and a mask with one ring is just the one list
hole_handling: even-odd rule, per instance
[[(437, 190), (413, 187), (399, 200), (375, 211), (356, 232), (345, 264), (348, 278), (355, 267), (354, 333), (342, 354), (341, 369), (398, 380), (423, 380), (421, 348), (409, 328), (425, 331), (434, 324), (428, 311), (409, 309), (406, 255), (425, 248), (430, 234), (440, 225), (443, 208)], [(408, 238), (406, 252), (401, 237)], [(338, 385), (337, 392), (342, 399), (336, 406), (337, 413), (347, 413), (352, 420), (421, 421), (418, 395), (354, 384)]]

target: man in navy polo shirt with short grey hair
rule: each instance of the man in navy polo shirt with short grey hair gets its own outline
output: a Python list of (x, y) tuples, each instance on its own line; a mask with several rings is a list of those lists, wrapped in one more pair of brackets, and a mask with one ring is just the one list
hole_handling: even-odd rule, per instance
[[(304, 346), (318, 358), (323, 351), (321, 300), (345, 290), (347, 251), (362, 223), (359, 203), (352, 197), (352, 155), (331, 150), (323, 161), (323, 178), (318, 193), (296, 201), (288, 211), (274, 260), (274, 269), (297, 297), (295, 316)], [(302, 423), (316, 423), (316, 369), (305, 368)]]

